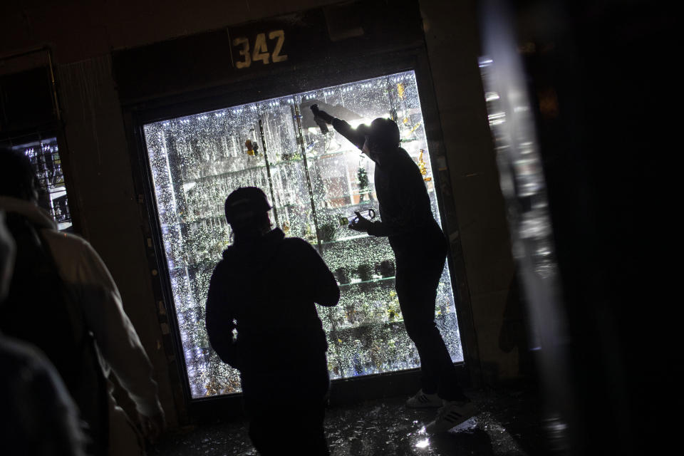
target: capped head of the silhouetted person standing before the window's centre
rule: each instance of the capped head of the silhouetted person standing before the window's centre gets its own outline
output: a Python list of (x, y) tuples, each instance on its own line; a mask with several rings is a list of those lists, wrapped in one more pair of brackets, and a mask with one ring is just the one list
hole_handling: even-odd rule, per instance
[(266, 194), (257, 187), (240, 187), (226, 198), (226, 221), (235, 242), (257, 239), (271, 230), (269, 203)]

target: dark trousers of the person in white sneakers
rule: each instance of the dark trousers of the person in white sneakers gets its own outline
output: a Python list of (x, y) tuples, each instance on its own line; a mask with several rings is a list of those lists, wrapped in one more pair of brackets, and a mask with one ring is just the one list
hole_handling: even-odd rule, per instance
[(406, 332), (420, 356), (421, 387), (423, 392), (437, 393), (445, 400), (465, 400), (451, 356), (435, 324), (437, 285), (447, 257), (447, 243), (441, 230), (417, 236), (413, 244), (393, 248), (397, 297)]

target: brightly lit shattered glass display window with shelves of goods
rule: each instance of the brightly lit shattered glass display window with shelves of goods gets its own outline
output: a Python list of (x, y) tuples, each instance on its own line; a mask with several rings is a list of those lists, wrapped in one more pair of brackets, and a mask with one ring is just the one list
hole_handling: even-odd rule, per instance
[[(237, 371), (209, 346), (204, 303), (214, 266), (231, 242), (224, 201), (243, 186), (264, 190), (274, 224), (314, 245), (338, 280), (338, 306), (318, 307), (331, 378), (420, 366), (403, 326), (387, 239), (347, 227), (357, 210), (376, 217), (374, 163), (332, 127), (321, 129), (309, 109), (314, 103), (353, 126), (396, 120), (440, 222), (413, 71), (143, 125), (192, 398), (240, 390)], [(448, 266), (435, 305), (452, 360), (462, 361)]]

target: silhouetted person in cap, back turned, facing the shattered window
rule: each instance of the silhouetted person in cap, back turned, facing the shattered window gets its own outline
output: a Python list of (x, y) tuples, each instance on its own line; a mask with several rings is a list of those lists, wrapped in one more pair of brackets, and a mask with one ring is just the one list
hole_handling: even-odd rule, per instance
[(314, 247), (271, 229), (269, 209), (257, 187), (226, 199), (234, 244), (209, 282), (209, 342), (240, 371), (249, 437), (262, 455), (328, 455), (328, 343), (314, 303), (334, 306), (340, 290)]

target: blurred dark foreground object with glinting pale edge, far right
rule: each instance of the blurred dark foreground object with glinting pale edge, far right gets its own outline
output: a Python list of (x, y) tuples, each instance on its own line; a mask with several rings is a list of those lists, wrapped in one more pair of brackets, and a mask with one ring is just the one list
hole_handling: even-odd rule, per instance
[(672, 150), (654, 114), (678, 85), (656, 69), (675, 55), (675, 17), (658, 2), (481, 4), (487, 114), (556, 452), (655, 454), (667, 438), (653, 394), (675, 344), (646, 286), (663, 282), (646, 273), (666, 193), (647, 178)]

